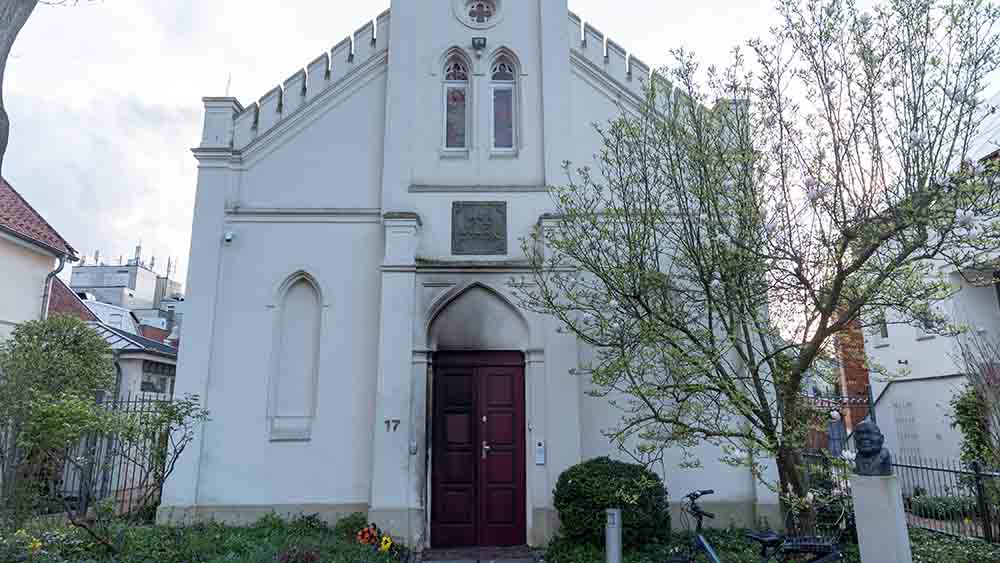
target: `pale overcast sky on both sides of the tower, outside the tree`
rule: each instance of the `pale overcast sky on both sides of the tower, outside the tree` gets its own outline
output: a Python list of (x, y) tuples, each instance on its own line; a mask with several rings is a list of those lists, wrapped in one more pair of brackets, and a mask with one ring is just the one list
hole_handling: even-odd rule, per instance
[[(422, 1), (422, 0), (411, 0)], [(521, 0), (514, 0), (521, 1)], [(190, 148), (201, 98), (249, 104), (389, 0), (98, 0), (39, 6), (6, 78), (4, 174), (83, 254), (180, 259), (185, 281), (195, 192)], [(771, 0), (570, 0), (570, 8), (652, 65), (686, 47), (724, 63), (763, 35)]]

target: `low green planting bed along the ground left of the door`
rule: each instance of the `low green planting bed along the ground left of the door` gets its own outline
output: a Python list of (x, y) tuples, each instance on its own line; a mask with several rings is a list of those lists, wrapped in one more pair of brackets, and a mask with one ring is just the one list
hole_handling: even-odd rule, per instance
[(120, 526), (118, 555), (78, 530), (58, 527), (0, 534), (4, 563), (398, 563), (398, 557), (358, 544), (315, 518), (292, 523), (265, 517), (251, 527)]

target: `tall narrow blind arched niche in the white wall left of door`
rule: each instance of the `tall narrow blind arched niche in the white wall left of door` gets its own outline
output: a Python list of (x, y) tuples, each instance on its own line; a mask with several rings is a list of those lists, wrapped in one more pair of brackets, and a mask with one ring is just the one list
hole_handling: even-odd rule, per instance
[(323, 295), (316, 280), (297, 272), (281, 284), (274, 306), (274, 339), (268, 389), (272, 441), (312, 435), (323, 328)]

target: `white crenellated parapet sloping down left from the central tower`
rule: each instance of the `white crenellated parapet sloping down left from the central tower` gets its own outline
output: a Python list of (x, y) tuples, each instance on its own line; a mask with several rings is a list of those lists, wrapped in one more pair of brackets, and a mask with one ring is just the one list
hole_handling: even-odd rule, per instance
[[(224, 138), (228, 130), (229, 146), (234, 150), (242, 150), (323, 92), (344, 81), (373, 59), (381, 57), (388, 48), (389, 10), (386, 10), (259, 100), (242, 108), (234, 116), (232, 123), (213, 120), (212, 126), (219, 130), (206, 129), (203, 136), (217, 140)], [(209, 122), (206, 120), (206, 127), (208, 126)]]

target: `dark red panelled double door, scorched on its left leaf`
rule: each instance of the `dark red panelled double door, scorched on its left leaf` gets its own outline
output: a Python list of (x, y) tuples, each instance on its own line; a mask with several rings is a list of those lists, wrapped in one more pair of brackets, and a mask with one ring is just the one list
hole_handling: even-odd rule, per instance
[(524, 545), (524, 356), (435, 356), (434, 547)]

